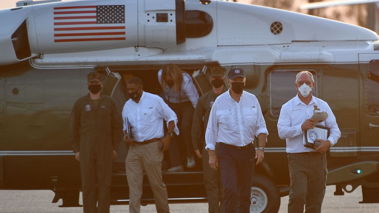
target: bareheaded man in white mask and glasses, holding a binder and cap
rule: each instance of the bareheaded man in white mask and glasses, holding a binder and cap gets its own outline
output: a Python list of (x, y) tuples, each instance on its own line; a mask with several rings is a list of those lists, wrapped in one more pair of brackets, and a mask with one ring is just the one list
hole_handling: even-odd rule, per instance
[[(326, 151), (337, 143), (341, 132), (335, 116), (329, 105), (314, 96), (315, 88), (312, 73), (299, 72), (296, 75), (296, 96), (282, 106), (278, 121), (278, 133), (281, 139), (286, 139), (288, 167), (290, 170), (290, 194), (288, 212), (318, 213), (321, 212), (326, 187), (327, 165)], [(318, 123), (330, 128), (327, 140), (317, 139), (321, 145), (316, 149), (305, 147), (304, 131), (315, 127), (311, 118), (313, 111), (325, 111), (328, 117)]]

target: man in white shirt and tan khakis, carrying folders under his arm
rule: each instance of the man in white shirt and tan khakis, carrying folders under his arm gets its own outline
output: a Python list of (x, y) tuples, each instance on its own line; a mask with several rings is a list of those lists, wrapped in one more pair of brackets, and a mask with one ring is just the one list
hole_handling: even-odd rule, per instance
[[(173, 132), (177, 135), (177, 117), (174, 111), (157, 95), (143, 91), (143, 82), (138, 77), (128, 80), (127, 91), (130, 99), (122, 110), (128, 121), (132, 139), (124, 136), (129, 145), (125, 161), (129, 185), (129, 212), (139, 213), (141, 207), (142, 181), (144, 171), (149, 179), (158, 213), (169, 212), (166, 185), (162, 180), (163, 152), (169, 147)], [(163, 133), (163, 120), (167, 121), (168, 133)]]

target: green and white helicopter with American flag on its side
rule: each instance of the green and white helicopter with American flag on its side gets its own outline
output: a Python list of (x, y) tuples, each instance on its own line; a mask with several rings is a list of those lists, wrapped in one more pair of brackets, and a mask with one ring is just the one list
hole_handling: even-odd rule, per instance
[[(118, 10), (118, 14), (106, 11)], [(259, 100), (268, 128), (265, 160), (255, 167), (251, 212), (277, 212), (290, 190), (282, 105), (308, 70), (341, 130), (327, 152), (335, 195), (362, 186), (362, 203), (379, 202), (379, 42), (348, 23), (220, 0), (22, 1), (0, 10), (0, 189), (52, 190), (61, 207), (79, 206), (80, 166), (68, 141), (70, 111), (88, 93), (86, 75), (106, 75), (103, 94), (120, 110), (126, 82), (161, 94), (165, 64), (188, 72), (200, 95), (210, 68), (242, 67), (245, 90)], [(254, 143), (256, 145), (257, 143)], [(128, 204), (127, 147), (113, 162), (111, 204)], [(200, 163), (201, 164), (201, 163)], [(201, 166), (163, 172), (169, 202), (207, 202)], [(349, 188), (348, 186), (352, 186)], [(144, 177), (143, 205), (154, 202)]]

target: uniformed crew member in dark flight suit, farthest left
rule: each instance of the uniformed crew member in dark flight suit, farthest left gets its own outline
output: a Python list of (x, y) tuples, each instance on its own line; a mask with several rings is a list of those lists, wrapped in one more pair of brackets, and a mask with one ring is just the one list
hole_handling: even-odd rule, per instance
[(100, 92), (102, 74), (91, 72), (87, 79), (89, 93), (74, 104), (69, 138), (80, 161), (84, 213), (108, 213), (112, 160), (122, 140), (122, 119), (114, 99)]

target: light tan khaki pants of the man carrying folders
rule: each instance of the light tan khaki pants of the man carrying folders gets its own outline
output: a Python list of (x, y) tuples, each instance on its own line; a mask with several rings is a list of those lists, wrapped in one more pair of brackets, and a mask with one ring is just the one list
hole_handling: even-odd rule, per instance
[(163, 152), (160, 141), (139, 145), (133, 143), (126, 158), (126, 177), (129, 185), (129, 212), (139, 213), (141, 207), (143, 173), (152, 188), (158, 213), (169, 212), (166, 185), (162, 180)]

